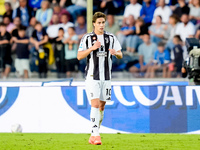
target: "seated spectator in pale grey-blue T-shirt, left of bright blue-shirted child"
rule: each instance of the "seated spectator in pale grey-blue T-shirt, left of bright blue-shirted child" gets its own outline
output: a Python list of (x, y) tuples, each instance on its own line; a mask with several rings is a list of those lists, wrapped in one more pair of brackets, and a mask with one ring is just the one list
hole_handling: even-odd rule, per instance
[(152, 65), (157, 45), (152, 43), (149, 34), (143, 35), (143, 43), (138, 47), (139, 63), (129, 68), (131, 73), (141, 72), (142, 74)]

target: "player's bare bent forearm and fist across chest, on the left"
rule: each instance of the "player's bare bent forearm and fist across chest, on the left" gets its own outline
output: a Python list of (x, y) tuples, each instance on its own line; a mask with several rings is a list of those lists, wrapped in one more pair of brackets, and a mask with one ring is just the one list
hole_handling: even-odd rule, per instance
[(90, 47), (90, 48), (88, 48), (88, 49), (86, 49), (86, 50), (78, 51), (77, 59), (78, 59), (78, 60), (84, 59), (84, 58), (87, 57), (92, 51), (97, 50), (97, 49), (100, 48), (100, 47), (101, 47), (101, 43), (99, 42), (99, 40), (97, 40), (97, 41), (95, 42), (95, 44), (94, 44), (92, 47)]

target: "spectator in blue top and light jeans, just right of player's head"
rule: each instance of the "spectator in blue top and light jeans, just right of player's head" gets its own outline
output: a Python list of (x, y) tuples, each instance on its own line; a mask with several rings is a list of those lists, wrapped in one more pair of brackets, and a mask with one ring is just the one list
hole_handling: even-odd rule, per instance
[[(117, 38), (122, 46), (122, 48), (131, 47), (131, 38), (135, 31), (135, 19), (133, 15), (127, 18), (128, 25), (121, 27), (120, 31), (117, 33)], [(130, 49), (127, 49), (128, 51)], [(129, 51), (131, 52), (131, 51)]]

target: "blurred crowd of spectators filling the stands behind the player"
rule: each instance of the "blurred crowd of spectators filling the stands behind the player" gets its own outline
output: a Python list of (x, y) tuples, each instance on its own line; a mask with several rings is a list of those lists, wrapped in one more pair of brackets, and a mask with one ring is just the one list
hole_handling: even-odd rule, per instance
[[(84, 73), (86, 61), (76, 57), (87, 32), (86, 6), (86, 0), (1, 1), (1, 77)], [(113, 58), (113, 71), (133, 77), (180, 77), (185, 39), (200, 39), (200, 0), (94, 0), (93, 11), (107, 15), (105, 30), (122, 45), (124, 57)]]

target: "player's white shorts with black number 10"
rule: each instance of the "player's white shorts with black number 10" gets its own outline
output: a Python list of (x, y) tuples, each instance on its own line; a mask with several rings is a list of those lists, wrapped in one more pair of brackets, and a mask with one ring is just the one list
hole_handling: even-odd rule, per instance
[(111, 100), (111, 81), (86, 80), (86, 93), (88, 100), (99, 98), (101, 101)]

